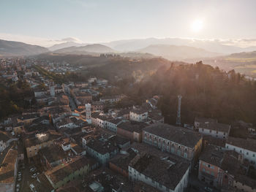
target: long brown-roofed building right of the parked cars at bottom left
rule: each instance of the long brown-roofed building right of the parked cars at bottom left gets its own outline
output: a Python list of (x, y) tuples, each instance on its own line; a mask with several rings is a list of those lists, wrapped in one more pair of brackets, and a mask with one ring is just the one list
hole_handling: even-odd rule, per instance
[(61, 164), (45, 172), (45, 177), (47, 177), (53, 188), (57, 189), (69, 181), (83, 177), (83, 175), (88, 174), (91, 170), (94, 170), (99, 166), (94, 158), (90, 157), (78, 157), (72, 161)]

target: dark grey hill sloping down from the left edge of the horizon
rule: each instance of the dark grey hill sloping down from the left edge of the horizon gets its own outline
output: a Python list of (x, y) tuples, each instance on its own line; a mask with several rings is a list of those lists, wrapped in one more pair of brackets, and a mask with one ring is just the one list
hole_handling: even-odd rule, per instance
[(45, 47), (38, 45), (29, 45), (23, 42), (11, 42), (0, 39), (0, 56), (23, 56), (23, 55), (38, 55), (40, 53), (48, 52)]

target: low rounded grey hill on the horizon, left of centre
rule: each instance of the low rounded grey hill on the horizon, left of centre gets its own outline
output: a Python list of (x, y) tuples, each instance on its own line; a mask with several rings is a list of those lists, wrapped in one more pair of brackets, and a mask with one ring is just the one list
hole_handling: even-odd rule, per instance
[(82, 47), (66, 47), (60, 50), (55, 50), (54, 53), (65, 53), (65, 54), (89, 54), (89, 53), (114, 53), (115, 50), (112, 48), (100, 45), (100, 44), (92, 44), (86, 45)]

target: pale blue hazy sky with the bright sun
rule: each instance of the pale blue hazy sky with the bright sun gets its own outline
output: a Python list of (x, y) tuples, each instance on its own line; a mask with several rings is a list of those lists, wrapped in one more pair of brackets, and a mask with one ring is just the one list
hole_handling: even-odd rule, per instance
[(0, 38), (52, 45), (140, 38), (256, 42), (255, 0), (1, 0)]

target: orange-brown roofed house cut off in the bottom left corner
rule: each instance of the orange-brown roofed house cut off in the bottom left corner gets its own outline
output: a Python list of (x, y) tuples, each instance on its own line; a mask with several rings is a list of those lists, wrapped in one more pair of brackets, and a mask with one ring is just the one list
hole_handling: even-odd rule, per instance
[(8, 150), (4, 158), (1, 159), (0, 164), (0, 191), (15, 192), (18, 172), (18, 151), (12, 148)]

